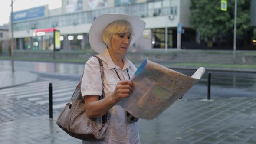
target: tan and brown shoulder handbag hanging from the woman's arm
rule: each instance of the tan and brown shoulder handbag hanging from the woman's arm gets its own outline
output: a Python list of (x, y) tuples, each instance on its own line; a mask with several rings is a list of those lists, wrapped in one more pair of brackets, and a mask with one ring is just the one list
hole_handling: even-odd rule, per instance
[[(100, 58), (98, 58), (98, 61), (100, 63), (103, 85), (103, 64)], [(102, 141), (109, 123), (107, 114), (103, 115), (102, 118), (88, 118), (80, 90), (81, 80), (69, 102), (61, 111), (56, 123), (72, 137), (85, 141)], [(102, 91), (102, 95), (100, 96), (100, 99), (102, 98), (105, 98), (104, 91)]]

